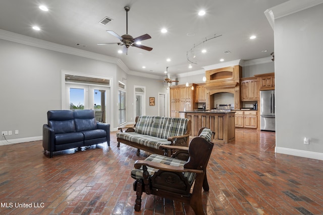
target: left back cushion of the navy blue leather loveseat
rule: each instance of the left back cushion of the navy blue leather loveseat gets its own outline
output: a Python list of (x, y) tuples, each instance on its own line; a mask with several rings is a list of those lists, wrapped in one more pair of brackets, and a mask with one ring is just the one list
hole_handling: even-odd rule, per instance
[(47, 124), (55, 133), (75, 132), (74, 115), (71, 110), (49, 110)]

